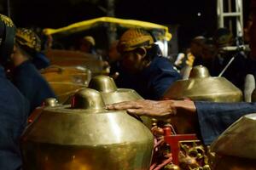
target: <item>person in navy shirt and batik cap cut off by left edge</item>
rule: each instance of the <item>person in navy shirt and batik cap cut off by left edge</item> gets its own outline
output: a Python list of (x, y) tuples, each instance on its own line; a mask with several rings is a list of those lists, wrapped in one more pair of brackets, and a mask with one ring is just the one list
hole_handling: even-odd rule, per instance
[(26, 127), (29, 102), (5, 77), (6, 65), (14, 49), (15, 25), (0, 14), (0, 169), (21, 167), (19, 138)]

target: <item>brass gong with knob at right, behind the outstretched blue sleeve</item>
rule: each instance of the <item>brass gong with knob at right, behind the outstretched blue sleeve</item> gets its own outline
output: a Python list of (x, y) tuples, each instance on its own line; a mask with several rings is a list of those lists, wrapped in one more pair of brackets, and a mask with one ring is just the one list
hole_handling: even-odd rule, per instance
[(188, 80), (174, 82), (164, 98), (237, 102), (241, 101), (242, 94), (224, 77), (210, 77), (207, 68), (199, 65), (192, 69)]

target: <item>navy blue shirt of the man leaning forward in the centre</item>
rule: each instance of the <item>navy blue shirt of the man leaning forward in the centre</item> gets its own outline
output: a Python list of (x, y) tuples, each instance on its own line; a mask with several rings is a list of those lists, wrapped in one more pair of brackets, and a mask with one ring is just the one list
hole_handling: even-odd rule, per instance
[(173, 82), (181, 79), (172, 63), (165, 57), (154, 57), (150, 65), (140, 74), (120, 72), (116, 80), (119, 88), (132, 88), (144, 99), (160, 99)]

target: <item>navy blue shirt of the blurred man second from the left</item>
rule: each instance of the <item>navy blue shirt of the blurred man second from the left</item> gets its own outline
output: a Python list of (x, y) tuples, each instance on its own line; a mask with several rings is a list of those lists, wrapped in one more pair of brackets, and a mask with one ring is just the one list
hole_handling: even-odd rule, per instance
[(31, 111), (43, 104), (47, 98), (55, 98), (48, 82), (38, 72), (37, 68), (26, 61), (15, 68), (13, 81), (26, 99), (29, 100)]

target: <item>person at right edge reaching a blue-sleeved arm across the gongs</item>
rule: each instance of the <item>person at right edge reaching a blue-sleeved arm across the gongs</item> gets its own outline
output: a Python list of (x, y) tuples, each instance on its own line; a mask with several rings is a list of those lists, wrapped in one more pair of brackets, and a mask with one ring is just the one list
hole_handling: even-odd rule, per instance
[[(253, 25), (250, 28), (251, 59), (256, 60), (256, 0), (252, 1)], [(254, 65), (255, 66), (255, 65)], [(256, 111), (256, 103), (212, 103), (183, 100), (138, 100), (108, 105), (109, 110), (127, 110), (139, 116), (184, 119), (199, 125), (204, 144), (211, 144), (224, 130), (241, 116)], [(192, 121), (191, 121), (192, 120)]]

